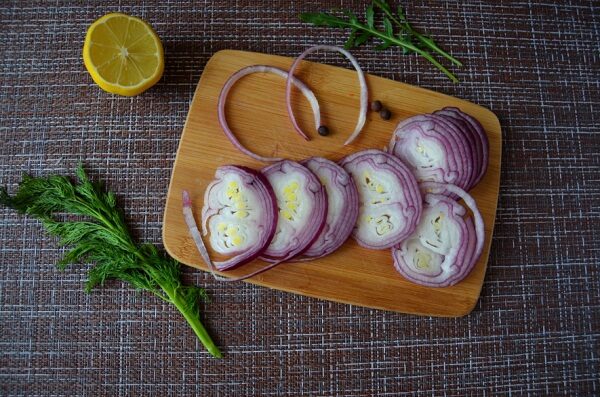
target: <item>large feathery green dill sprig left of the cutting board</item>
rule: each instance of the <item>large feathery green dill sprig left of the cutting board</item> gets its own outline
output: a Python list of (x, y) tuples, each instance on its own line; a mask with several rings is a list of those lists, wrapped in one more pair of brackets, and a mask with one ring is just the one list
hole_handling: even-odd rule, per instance
[[(60, 269), (79, 262), (94, 262), (85, 291), (108, 280), (123, 280), (173, 304), (214, 357), (221, 352), (200, 321), (200, 299), (204, 289), (183, 285), (179, 262), (160, 253), (153, 244), (137, 244), (131, 236), (114, 193), (91, 182), (83, 167), (77, 182), (53, 175), (25, 175), (14, 196), (0, 187), (0, 204), (39, 219), (46, 230), (72, 246), (57, 264)], [(69, 218), (76, 217), (77, 220)]]

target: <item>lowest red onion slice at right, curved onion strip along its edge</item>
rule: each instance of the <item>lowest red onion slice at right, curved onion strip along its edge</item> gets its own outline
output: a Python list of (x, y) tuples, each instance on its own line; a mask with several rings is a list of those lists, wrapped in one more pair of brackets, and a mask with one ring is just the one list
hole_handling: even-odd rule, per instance
[[(408, 280), (428, 286), (447, 287), (463, 280), (473, 269), (483, 250), (483, 218), (475, 200), (454, 185), (425, 182), (421, 188), (426, 206), (415, 232), (392, 249), (396, 270)], [(441, 193), (441, 194), (435, 194)], [(459, 196), (471, 209), (465, 209), (448, 194)]]

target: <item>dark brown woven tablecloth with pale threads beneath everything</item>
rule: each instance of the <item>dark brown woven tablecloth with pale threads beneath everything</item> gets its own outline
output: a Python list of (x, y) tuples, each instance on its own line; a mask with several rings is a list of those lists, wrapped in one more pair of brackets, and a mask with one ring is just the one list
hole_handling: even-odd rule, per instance
[[(140, 238), (160, 243), (179, 136), (206, 61), (225, 48), (293, 56), (344, 35), (300, 11), (354, 2), (3, 1), (0, 183), (70, 173), (108, 182)], [(327, 4), (325, 4), (327, 3)], [(215, 360), (179, 313), (119, 282), (86, 295), (89, 264), (40, 224), (0, 209), (2, 395), (599, 395), (600, 7), (595, 1), (405, 2), (463, 60), (452, 84), (398, 49), (355, 55), (370, 73), (491, 108), (503, 127), (496, 230), (465, 318), (416, 317), (223, 284), (186, 269), (212, 303)], [(150, 21), (162, 81), (135, 98), (91, 82), (86, 28), (109, 11)], [(335, 57), (329, 57), (333, 60)]]

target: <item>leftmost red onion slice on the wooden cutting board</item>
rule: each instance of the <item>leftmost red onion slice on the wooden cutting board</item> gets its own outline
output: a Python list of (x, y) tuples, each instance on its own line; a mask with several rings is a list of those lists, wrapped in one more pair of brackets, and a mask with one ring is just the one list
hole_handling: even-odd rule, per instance
[(206, 188), (202, 231), (210, 245), (232, 258), (215, 262), (233, 269), (257, 258), (271, 243), (277, 225), (277, 203), (271, 185), (257, 171), (227, 165), (217, 168)]

